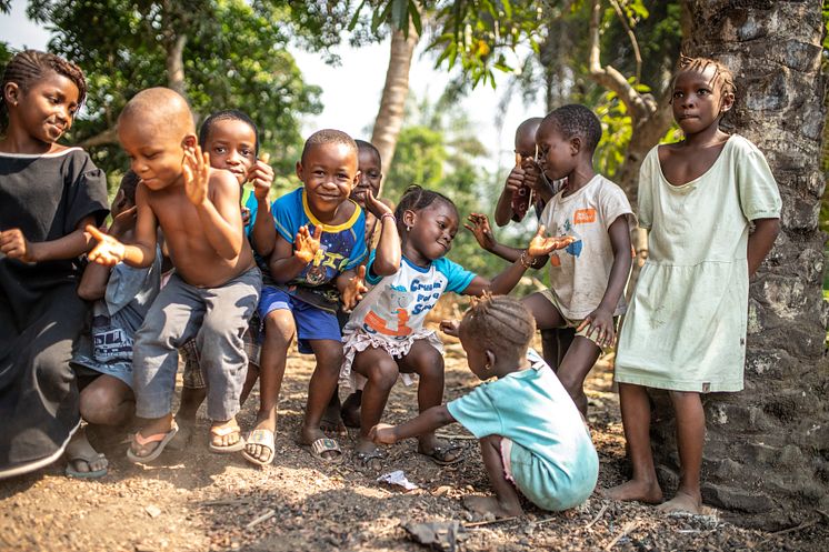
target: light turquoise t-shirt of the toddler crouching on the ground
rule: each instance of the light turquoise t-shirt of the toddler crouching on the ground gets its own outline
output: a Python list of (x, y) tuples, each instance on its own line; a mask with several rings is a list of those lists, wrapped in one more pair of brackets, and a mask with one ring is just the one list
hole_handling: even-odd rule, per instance
[(447, 404), (478, 439), (512, 441), (510, 468), (518, 489), (546, 510), (583, 502), (596, 488), (599, 456), (576, 404), (533, 350), (531, 368), (478, 385)]

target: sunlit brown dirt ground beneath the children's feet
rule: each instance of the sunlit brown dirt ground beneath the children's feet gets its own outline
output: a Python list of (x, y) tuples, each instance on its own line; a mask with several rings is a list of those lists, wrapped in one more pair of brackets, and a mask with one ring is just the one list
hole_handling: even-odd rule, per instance
[[(473, 385), (458, 343), (447, 348), (446, 399)], [(203, 408), (187, 451), (166, 451), (151, 466), (127, 461), (123, 446), (109, 449), (109, 474), (98, 481), (63, 475), (63, 463), (0, 482), (0, 550), (34, 551), (317, 551), (427, 550), (403, 525), (459, 522), (457, 548), (466, 551), (549, 550), (805, 550), (829, 549), (822, 524), (782, 533), (740, 529), (703, 516), (661, 515), (652, 508), (613, 503), (598, 492), (582, 506), (562, 513), (528, 509), (518, 520), (472, 520), (462, 508), (468, 493), (487, 494), (487, 474), (477, 442), (459, 425), (445, 434), (468, 445), (466, 460), (439, 468), (416, 452), (413, 440), (389, 448), (380, 473), (403, 470), (419, 489), (404, 492), (378, 483), (351, 462), (352, 442), (341, 440), (346, 461), (316, 461), (294, 442), (300, 424), (310, 358), (293, 355), (279, 409), (277, 458), (266, 469), (239, 454), (212, 454), (207, 448)], [(590, 423), (601, 459), (599, 488), (623, 479), (623, 439), (617, 395), (607, 368), (588, 381)], [(416, 390), (397, 385), (387, 420), (400, 422), (417, 411)], [(258, 395), (240, 415), (252, 424)], [(437, 550), (437, 549), (436, 549)]]

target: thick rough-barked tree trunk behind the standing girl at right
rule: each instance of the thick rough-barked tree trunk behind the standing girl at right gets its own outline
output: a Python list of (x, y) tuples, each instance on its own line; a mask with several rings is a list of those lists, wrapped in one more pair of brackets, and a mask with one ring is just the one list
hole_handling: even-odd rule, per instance
[[(737, 103), (723, 121), (766, 154), (783, 199), (782, 230), (752, 279), (746, 389), (705, 397), (702, 498), (767, 529), (829, 510), (825, 237), (818, 212), (825, 82), (821, 7), (812, 1), (689, 0), (690, 56), (725, 62)], [(653, 393), (662, 483), (678, 481), (669, 401)], [(739, 512), (739, 513), (738, 513)]]

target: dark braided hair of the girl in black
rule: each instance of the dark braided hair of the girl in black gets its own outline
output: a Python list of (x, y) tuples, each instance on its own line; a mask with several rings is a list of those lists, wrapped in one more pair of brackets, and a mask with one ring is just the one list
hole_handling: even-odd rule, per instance
[[(24, 50), (17, 53), (6, 66), (2, 89), (4, 90), (9, 82), (16, 82), (26, 91), (49, 71), (66, 77), (78, 87), (78, 109), (80, 109), (87, 99), (87, 80), (83, 78), (83, 71), (71, 61), (53, 53), (38, 50)], [(4, 94), (0, 94), (0, 128), (6, 128), (9, 107), (6, 104)]]

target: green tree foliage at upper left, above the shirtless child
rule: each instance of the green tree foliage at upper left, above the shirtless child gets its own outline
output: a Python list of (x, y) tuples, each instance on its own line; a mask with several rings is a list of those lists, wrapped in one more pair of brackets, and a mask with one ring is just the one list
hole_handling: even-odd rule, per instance
[[(259, 126), (262, 150), (271, 153), (277, 173), (284, 173), (301, 147), (300, 118), (321, 111), (320, 90), (302, 81), (286, 50), (292, 18), (310, 18), (314, 6), (298, 13), (283, 2), (243, 0), (38, 0), (30, 2), (29, 16), (53, 30), (49, 49), (87, 73), (90, 94), (70, 141), (113, 128), (138, 91), (168, 86), (168, 52), (184, 33), (186, 92), (197, 119), (219, 109), (248, 112)], [(326, 40), (330, 37), (317, 46), (324, 48)], [(113, 143), (90, 153), (108, 172), (128, 164)]]

